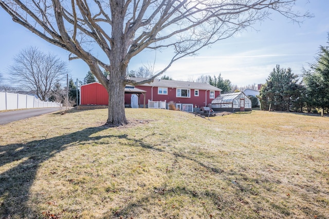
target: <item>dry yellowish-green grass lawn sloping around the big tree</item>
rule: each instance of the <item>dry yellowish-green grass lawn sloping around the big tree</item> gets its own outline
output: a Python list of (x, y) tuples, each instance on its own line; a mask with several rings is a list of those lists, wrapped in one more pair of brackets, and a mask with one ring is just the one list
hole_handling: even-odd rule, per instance
[(0, 126), (0, 218), (329, 218), (329, 118), (126, 109)]

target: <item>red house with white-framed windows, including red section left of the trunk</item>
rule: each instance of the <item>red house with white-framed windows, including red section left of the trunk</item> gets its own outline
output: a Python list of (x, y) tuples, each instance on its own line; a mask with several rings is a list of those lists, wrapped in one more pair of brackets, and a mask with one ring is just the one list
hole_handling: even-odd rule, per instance
[[(145, 78), (131, 77), (130, 79), (141, 82)], [(150, 84), (136, 87), (127, 86), (124, 102), (127, 107), (149, 107), (149, 103), (153, 102), (166, 102), (166, 104), (173, 102), (176, 108), (193, 112), (195, 106), (199, 108), (211, 104), (211, 101), (220, 95), (221, 91), (221, 89), (205, 83), (154, 79), (154, 82)], [(107, 105), (108, 103), (107, 91), (99, 83), (81, 86), (80, 93), (81, 105)]]

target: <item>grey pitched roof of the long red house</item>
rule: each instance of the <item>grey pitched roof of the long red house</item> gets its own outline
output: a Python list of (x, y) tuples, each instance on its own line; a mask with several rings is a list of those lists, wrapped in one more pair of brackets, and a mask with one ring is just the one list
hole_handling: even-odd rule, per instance
[[(136, 82), (144, 81), (147, 78), (143, 77), (130, 77), (131, 80)], [(197, 89), (197, 90), (214, 90), (214, 91), (222, 91), (220, 88), (216, 88), (212, 85), (206, 83), (198, 83), (198, 82), (182, 82), (182, 81), (172, 81), (166, 79), (154, 79), (150, 84), (143, 84), (142, 86), (149, 87), (167, 87), (167, 88), (187, 88), (187, 89)]]

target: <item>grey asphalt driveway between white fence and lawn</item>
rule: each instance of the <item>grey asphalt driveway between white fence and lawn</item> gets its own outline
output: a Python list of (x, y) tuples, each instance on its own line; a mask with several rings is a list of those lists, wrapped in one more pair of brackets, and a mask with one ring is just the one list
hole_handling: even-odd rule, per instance
[(17, 120), (24, 120), (33, 116), (59, 111), (60, 107), (21, 109), (7, 112), (0, 112), (0, 125), (11, 123)]

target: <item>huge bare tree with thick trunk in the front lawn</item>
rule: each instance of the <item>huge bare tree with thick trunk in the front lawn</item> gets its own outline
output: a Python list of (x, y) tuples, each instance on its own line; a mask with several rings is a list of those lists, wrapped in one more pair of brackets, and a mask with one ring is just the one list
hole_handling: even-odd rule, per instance
[[(81, 58), (109, 94), (107, 124), (126, 124), (124, 86), (150, 83), (173, 62), (232, 36), (271, 11), (299, 22), (296, 0), (0, 0), (0, 6), (47, 42)], [(87, 44), (84, 42), (87, 41)], [(94, 42), (91, 46), (90, 42)], [(102, 61), (97, 47), (106, 56)], [(161, 71), (137, 83), (127, 65), (145, 49), (166, 49), (172, 57)], [(110, 72), (107, 79), (102, 70)]]

